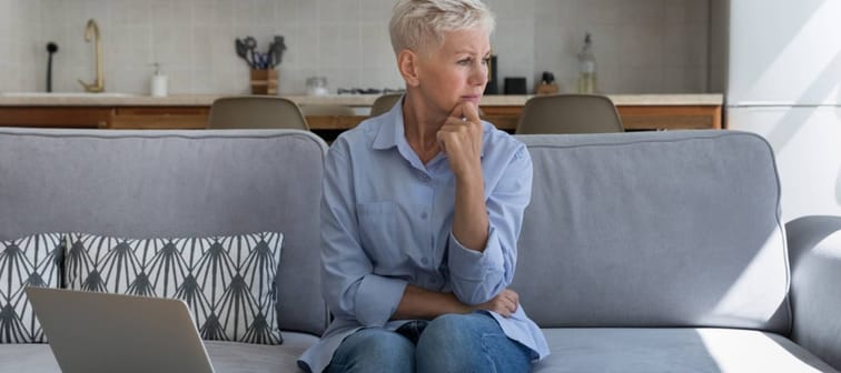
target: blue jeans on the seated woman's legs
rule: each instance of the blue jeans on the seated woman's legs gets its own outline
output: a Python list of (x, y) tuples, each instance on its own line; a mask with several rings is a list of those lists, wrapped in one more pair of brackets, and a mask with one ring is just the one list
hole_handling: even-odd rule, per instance
[(491, 315), (446, 314), (396, 332), (359, 330), (342, 342), (325, 372), (516, 373), (532, 370), (531, 356)]

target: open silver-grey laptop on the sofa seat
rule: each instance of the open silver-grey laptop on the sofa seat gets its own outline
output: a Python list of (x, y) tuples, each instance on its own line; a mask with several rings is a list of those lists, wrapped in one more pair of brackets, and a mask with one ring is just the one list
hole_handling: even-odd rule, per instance
[(181, 300), (28, 286), (63, 373), (212, 373)]

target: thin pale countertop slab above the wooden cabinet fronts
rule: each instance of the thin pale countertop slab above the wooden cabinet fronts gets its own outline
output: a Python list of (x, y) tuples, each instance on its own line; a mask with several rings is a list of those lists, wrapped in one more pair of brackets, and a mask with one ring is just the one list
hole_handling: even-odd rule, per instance
[[(0, 93), (0, 107), (209, 107), (219, 94), (174, 94), (166, 98), (115, 93)], [(377, 94), (285, 95), (299, 105), (340, 104), (370, 107)], [(522, 107), (532, 95), (485, 95), (482, 107)], [(712, 105), (724, 102), (721, 93), (609, 94), (617, 107)]]

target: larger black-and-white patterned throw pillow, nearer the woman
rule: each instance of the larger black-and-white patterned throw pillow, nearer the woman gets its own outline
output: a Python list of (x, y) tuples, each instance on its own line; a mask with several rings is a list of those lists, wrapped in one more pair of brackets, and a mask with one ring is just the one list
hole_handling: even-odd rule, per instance
[(205, 340), (280, 344), (281, 233), (131, 240), (69, 234), (67, 286), (185, 301)]

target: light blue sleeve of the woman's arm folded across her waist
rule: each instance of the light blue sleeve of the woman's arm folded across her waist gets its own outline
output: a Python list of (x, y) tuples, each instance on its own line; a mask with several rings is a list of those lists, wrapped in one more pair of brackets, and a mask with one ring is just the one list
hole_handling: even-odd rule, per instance
[(321, 291), (336, 317), (364, 326), (384, 325), (406, 288), (399, 279), (373, 273), (359, 245), (347, 144), (337, 141), (325, 160), (321, 199)]

